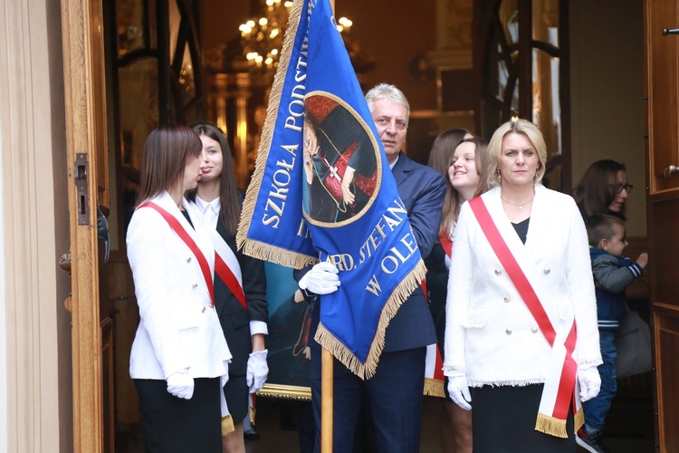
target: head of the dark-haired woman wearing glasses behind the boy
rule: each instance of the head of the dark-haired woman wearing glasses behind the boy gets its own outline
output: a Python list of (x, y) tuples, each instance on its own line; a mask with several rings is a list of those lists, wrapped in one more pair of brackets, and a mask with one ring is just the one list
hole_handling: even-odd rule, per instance
[(625, 205), (631, 191), (625, 165), (604, 159), (589, 166), (573, 190), (573, 198), (585, 221), (595, 214), (610, 214), (625, 220)]

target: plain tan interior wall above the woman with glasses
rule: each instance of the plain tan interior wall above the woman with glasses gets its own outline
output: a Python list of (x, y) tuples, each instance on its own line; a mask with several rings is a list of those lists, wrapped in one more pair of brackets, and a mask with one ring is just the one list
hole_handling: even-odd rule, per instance
[(599, 159), (623, 162), (634, 185), (627, 236), (646, 236), (644, 10), (641, 0), (571, 0), (573, 186)]

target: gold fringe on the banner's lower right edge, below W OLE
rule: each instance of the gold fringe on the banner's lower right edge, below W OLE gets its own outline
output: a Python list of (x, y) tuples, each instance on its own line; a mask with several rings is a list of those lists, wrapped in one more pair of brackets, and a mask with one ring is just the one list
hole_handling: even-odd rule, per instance
[[(387, 325), (389, 325), (391, 319), (396, 315), (401, 304), (403, 304), (410, 294), (416, 290), (417, 286), (422, 283), (425, 274), (425, 262), (420, 259), (420, 262), (415, 266), (415, 269), (413, 269), (410, 274), (397, 285), (396, 289), (389, 297), (387, 304), (382, 308), (382, 314), (379, 316), (378, 330), (370, 345), (368, 358), (365, 363), (361, 363), (359, 359), (347, 349), (344, 343), (340, 342), (328, 329), (326, 329), (323, 323), (319, 323), (314, 339), (319, 342), (321, 346), (330, 351), (335, 359), (341, 361), (351, 372), (359, 376), (360, 379), (370, 379), (375, 375), (375, 371), (378, 370), (379, 356), (384, 349)], [(425, 371), (423, 370), (422, 372), (424, 373)]]

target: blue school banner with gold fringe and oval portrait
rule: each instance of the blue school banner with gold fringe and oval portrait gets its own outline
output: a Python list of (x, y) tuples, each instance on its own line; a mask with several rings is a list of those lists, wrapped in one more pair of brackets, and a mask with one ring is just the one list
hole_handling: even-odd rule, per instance
[(288, 34), (238, 240), (283, 265), (338, 267), (316, 340), (368, 378), (425, 266), (330, 2), (296, 1)]

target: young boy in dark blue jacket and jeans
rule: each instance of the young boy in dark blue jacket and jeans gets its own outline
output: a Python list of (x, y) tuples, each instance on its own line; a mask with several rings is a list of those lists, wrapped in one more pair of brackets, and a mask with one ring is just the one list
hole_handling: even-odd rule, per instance
[(616, 396), (615, 332), (626, 312), (625, 288), (644, 274), (648, 255), (643, 253), (636, 263), (625, 257), (625, 223), (618, 217), (597, 214), (587, 222), (589, 255), (597, 292), (599, 342), (603, 364), (598, 366), (601, 390), (596, 398), (585, 401), (585, 426), (579, 429), (578, 445), (593, 453), (609, 451), (601, 439), (601, 429), (611, 401)]

